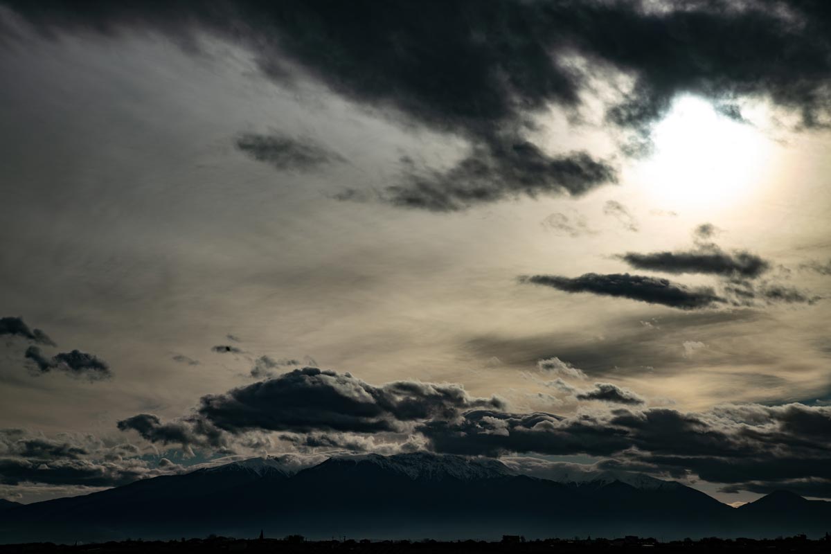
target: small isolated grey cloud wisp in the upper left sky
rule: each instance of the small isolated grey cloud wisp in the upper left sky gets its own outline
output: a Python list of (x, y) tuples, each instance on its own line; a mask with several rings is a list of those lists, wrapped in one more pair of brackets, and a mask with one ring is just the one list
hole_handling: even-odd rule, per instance
[(234, 145), (251, 159), (282, 170), (309, 171), (322, 165), (346, 161), (340, 154), (327, 150), (312, 140), (278, 133), (243, 133), (237, 137)]

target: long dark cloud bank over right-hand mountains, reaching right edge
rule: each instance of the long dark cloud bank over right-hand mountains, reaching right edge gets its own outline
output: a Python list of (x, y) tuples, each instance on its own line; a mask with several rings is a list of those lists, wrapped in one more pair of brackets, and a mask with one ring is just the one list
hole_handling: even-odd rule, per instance
[(831, 498), (831, 407), (613, 409), (569, 418), (472, 410), (417, 429), (441, 453), (612, 456), (598, 465), (676, 478), (692, 473), (733, 490), (798, 485), (800, 493)]

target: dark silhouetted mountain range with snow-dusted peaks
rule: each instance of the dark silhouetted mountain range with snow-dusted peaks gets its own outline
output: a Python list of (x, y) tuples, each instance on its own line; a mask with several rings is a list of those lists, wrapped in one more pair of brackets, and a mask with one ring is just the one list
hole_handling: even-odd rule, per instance
[(336, 456), (299, 471), (252, 458), (73, 498), (0, 503), (0, 542), (330, 537), (776, 537), (831, 530), (831, 503), (787, 492), (733, 508), (625, 472), (536, 478), (489, 458)]

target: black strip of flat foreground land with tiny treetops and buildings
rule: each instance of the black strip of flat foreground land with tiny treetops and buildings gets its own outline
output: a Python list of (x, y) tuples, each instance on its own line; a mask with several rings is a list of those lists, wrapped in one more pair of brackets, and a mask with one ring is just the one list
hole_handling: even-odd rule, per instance
[(274, 554), (538, 554), (542, 552), (831, 552), (831, 537), (812, 541), (798, 537), (777, 539), (720, 539), (659, 542), (654, 538), (622, 537), (618, 539), (575, 538), (525, 541), (522, 537), (504, 537), (501, 542), (370, 541), (368, 539), (305, 541), (292, 536), (284, 539), (235, 539), (209, 537), (180, 541), (103, 542), (85, 545), (57, 545), (51, 542), (0, 545), (0, 554), (203, 554), (208, 552), (262, 552)]

